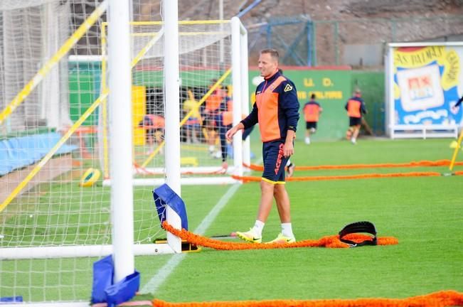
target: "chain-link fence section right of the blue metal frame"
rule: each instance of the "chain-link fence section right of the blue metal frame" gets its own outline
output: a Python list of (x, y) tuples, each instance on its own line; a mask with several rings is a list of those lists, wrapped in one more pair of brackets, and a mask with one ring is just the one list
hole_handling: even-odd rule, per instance
[(463, 16), (315, 21), (312, 65), (381, 67), (385, 44), (462, 41)]

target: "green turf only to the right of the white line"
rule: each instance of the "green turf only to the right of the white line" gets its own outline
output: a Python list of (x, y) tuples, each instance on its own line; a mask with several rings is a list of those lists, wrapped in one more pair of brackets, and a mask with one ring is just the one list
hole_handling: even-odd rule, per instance
[[(298, 166), (434, 161), (451, 157), (448, 144), (449, 140), (361, 139), (356, 146), (347, 141), (310, 146), (297, 142), (292, 161)], [(294, 176), (410, 171), (448, 170), (381, 168), (304, 171)], [(297, 239), (336, 235), (350, 222), (368, 220), (376, 225), (378, 236), (397, 237), (399, 244), (354, 249), (203, 249), (186, 255), (154, 296), (186, 302), (403, 298), (445, 289), (463, 291), (462, 183), (459, 176), (287, 183)], [(248, 230), (259, 200), (258, 183), (243, 185), (206, 235)], [(188, 204), (188, 210), (196, 210), (196, 205)], [(280, 221), (274, 207), (264, 241), (278, 232)]]

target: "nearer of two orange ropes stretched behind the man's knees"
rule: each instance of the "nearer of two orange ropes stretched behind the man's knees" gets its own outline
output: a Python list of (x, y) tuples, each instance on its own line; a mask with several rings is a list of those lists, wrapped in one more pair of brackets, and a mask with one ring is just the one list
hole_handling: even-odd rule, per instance
[[(457, 171), (453, 173), (455, 176), (462, 176), (463, 171)], [(369, 178), (391, 178), (391, 177), (435, 177), (442, 176), (441, 173), (437, 172), (412, 172), (412, 173), (371, 173), (371, 174), (360, 174), (360, 175), (343, 175), (343, 176), (304, 176), (304, 177), (290, 177), (286, 178), (286, 181), (329, 181), (329, 180), (343, 180), (343, 179), (369, 179)], [(261, 177), (257, 176), (236, 176), (232, 175), (232, 178), (248, 183), (251, 181), (260, 182)]]

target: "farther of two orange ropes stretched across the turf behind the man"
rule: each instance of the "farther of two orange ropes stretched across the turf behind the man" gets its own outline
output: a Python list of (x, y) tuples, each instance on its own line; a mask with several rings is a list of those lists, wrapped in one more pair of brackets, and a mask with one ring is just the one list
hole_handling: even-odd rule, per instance
[[(251, 164), (250, 166), (243, 164), (245, 167), (252, 169), (252, 171), (263, 171), (264, 167)], [(437, 161), (412, 161), (408, 163), (378, 163), (378, 164), (349, 164), (349, 165), (324, 165), (324, 166), (296, 166), (296, 171), (315, 171), (325, 169), (356, 169), (356, 168), (407, 168), (419, 166), (449, 166), (450, 160), (437, 160)], [(463, 166), (463, 162), (455, 163), (457, 166)]]

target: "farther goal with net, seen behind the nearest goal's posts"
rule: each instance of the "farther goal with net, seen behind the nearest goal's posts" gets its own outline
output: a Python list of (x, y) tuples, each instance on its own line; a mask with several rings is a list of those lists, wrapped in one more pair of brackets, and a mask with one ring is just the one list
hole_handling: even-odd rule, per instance
[[(103, 38), (105, 26), (104, 23)], [(164, 28), (161, 22), (132, 23), (134, 185), (150, 186), (164, 182), (165, 122), (177, 120), (166, 119), (165, 114), (163, 35)], [(240, 43), (244, 44), (245, 35), (238, 33), (238, 36)], [(102, 46), (104, 49), (104, 39)], [(238, 48), (235, 52), (240, 53), (241, 50)], [(247, 50), (245, 52), (247, 53)], [(241, 68), (233, 70), (232, 55), (230, 21), (180, 21), (181, 87), (178, 120), (182, 184), (234, 183), (235, 180), (228, 175), (242, 174), (243, 157), (249, 162), (248, 146), (244, 147), (244, 151), (240, 150), (243, 149), (243, 146), (240, 146), (239, 154), (235, 155), (233, 146), (225, 140), (225, 131), (233, 124), (233, 109), (237, 109), (237, 114), (248, 112), (248, 99), (237, 99), (236, 92), (233, 92), (233, 72)], [(85, 57), (75, 59), (85, 61)], [(94, 59), (102, 63), (102, 88), (105, 88), (105, 57)], [(247, 63), (247, 60), (245, 61)], [(248, 78), (243, 74), (247, 73), (247, 68), (238, 72), (239, 86), (245, 86), (246, 89)], [(247, 92), (246, 89), (243, 92)], [(105, 133), (109, 121), (104, 114), (101, 118), (99, 144), (105, 173), (103, 184), (110, 185), (110, 141)], [(238, 145), (240, 144), (235, 144), (235, 147)]]

